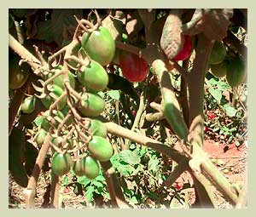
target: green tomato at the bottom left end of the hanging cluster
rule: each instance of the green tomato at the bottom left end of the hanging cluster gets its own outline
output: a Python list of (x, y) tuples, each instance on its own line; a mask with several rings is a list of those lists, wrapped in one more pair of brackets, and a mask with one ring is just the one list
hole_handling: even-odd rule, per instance
[(67, 174), (71, 168), (71, 157), (68, 153), (62, 154), (55, 152), (51, 161), (52, 171), (58, 175), (62, 176)]

